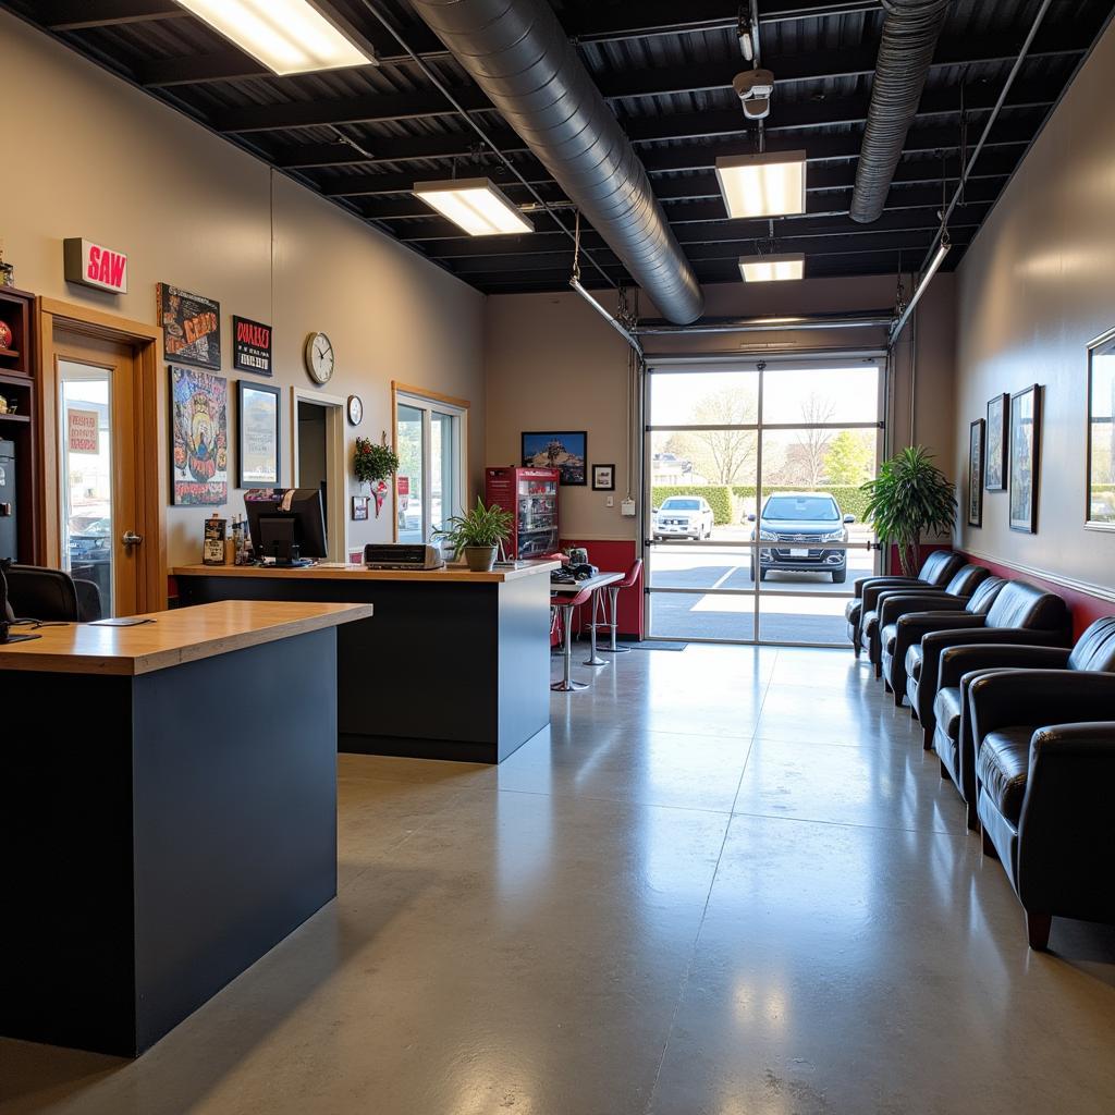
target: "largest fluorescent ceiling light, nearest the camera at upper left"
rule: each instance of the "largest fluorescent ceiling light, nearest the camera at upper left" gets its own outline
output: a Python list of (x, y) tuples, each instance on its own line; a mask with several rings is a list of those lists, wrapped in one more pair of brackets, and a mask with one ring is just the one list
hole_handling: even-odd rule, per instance
[(307, 0), (178, 3), (280, 76), (375, 62)]

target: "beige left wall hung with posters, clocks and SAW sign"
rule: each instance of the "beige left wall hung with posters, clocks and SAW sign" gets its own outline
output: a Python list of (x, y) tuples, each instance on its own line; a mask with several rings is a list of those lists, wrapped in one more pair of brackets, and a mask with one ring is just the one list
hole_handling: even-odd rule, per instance
[[(156, 282), (217, 299), (230, 400), (241, 376), (232, 369), (232, 314), (270, 322), (271, 382), (283, 389), (283, 483), (293, 475), (290, 388), (314, 389), (302, 365), (312, 330), (327, 332), (338, 355), (321, 390), (363, 399), (349, 452), (357, 434), (390, 432), (390, 380), (398, 379), (472, 401), (469, 473), (479, 478), (481, 294), (3, 12), (0, 41), (6, 87), (21, 90), (4, 142), (33, 153), (0, 176), (0, 237), (19, 287), (151, 323)], [(67, 284), (66, 236), (127, 252), (129, 292)], [(243, 511), (234, 455), (230, 466), (225, 511), (233, 514)], [(351, 477), (349, 489), (359, 491)], [(388, 508), (378, 521), (348, 523), (350, 547), (390, 537)], [(207, 513), (168, 510), (172, 564), (198, 559)]]

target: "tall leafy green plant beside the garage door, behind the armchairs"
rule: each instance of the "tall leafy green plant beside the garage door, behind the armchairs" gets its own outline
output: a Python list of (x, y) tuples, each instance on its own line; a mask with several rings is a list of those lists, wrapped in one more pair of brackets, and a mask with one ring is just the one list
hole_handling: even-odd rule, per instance
[(864, 517), (880, 542), (898, 546), (905, 576), (918, 572), (923, 534), (952, 533), (957, 488), (923, 446), (912, 445), (884, 462), (860, 491), (867, 496)]

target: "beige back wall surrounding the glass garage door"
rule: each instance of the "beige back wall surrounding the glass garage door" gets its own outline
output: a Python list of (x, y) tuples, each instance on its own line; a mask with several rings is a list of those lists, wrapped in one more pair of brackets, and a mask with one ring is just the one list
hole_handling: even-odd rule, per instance
[[(910, 386), (915, 384), (913, 439), (930, 446), (951, 473), (953, 458), (954, 283), (939, 275), (919, 304), (917, 369), (912, 375), (914, 332), (908, 328), (894, 351), (892, 371), (892, 442), (910, 444)], [(758, 317), (793, 313), (836, 313), (889, 309), (894, 303), (894, 279), (815, 279), (801, 283), (745, 289), (724, 283), (705, 289), (706, 313), (715, 317)], [(614, 309), (614, 298), (600, 300)], [(653, 307), (641, 307), (653, 317)], [(881, 329), (824, 332), (689, 336), (646, 338), (648, 352), (754, 355), (764, 347), (782, 350), (827, 347), (885, 347)], [(501, 294), (487, 300), (485, 313), (487, 367), (487, 463), (518, 460), (520, 434), (532, 429), (586, 429), (589, 463), (617, 465), (614, 506), (604, 493), (564, 487), (561, 497), (562, 535), (576, 539), (633, 539), (637, 520), (623, 518), (619, 503), (627, 488), (626, 341), (582, 299), (561, 294)], [(634, 432), (636, 454), (642, 447)], [(638, 481), (633, 481), (636, 485)], [(640, 493), (634, 492), (638, 500)]]

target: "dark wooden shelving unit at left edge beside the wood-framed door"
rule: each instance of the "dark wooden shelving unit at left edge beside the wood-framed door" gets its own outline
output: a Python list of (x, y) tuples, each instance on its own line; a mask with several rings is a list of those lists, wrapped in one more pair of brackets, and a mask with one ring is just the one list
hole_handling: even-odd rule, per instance
[(39, 432), (38, 367), (35, 295), (0, 287), (0, 320), (12, 333), (10, 348), (0, 348), (0, 396), (14, 414), (0, 414), (0, 440), (16, 447), (16, 558), (37, 563), (39, 554)]

